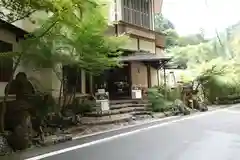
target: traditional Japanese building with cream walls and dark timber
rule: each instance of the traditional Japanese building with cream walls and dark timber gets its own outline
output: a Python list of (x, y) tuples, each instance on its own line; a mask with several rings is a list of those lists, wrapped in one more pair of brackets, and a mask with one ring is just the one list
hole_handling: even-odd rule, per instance
[[(107, 35), (129, 35), (126, 45), (119, 48), (124, 52), (119, 60), (124, 67), (105, 71), (98, 77), (81, 70), (66, 69), (65, 74), (78, 79), (77, 94), (92, 94), (105, 84), (111, 99), (131, 98), (134, 86), (149, 88), (159, 85), (159, 70), (170, 58), (163, 54), (165, 35), (154, 31), (154, 14), (161, 12), (162, 0), (111, 0), (109, 1), (109, 29)], [(5, 23), (4, 21), (1, 21)], [(111, 23), (117, 22), (117, 23)], [(31, 32), (34, 25), (27, 20), (15, 25), (6, 24), (0, 27), (0, 51), (17, 51), (18, 41), (25, 32)], [(13, 60), (12, 60), (13, 61)], [(11, 64), (0, 65), (0, 95), (4, 95), (4, 86), (9, 80)], [(63, 67), (64, 68), (64, 67)], [(17, 72), (24, 71), (28, 78), (41, 90), (59, 95), (60, 81), (50, 68), (34, 70), (20, 66)], [(47, 78), (46, 78), (47, 77)], [(121, 86), (121, 91), (119, 87)], [(119, 92), (120, 91), (120, 92)]]

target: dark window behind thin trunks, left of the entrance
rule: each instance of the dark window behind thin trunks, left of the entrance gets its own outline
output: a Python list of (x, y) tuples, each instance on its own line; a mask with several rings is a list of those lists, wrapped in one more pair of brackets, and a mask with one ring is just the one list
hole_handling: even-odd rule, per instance
[(63, 77), (65, 80), (64, 91), (67, 93), (82, 93), (81, 69), (74, 66), (63, 66)]

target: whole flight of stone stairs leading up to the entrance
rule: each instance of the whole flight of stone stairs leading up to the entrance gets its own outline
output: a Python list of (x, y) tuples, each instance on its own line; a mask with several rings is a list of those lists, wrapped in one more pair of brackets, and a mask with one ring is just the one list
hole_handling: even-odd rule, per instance
[(110, 101), (110, 110), (101, 113), (93, 111), (81, 118), (85, 125), (102, 125), (129, 122), (137, 118), (151, 116), (148, 102), (142, 100)]

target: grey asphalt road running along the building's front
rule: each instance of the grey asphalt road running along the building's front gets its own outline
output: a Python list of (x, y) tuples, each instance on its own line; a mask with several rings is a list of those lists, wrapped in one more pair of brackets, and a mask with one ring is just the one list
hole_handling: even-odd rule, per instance
[(240, 160), (240, 105), (79, 139), (17, 157), (27, 160)]

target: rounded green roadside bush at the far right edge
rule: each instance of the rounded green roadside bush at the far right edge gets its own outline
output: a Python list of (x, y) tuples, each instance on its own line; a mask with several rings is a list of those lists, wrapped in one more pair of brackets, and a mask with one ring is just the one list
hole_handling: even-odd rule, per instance
[(199, 73), (197, 79), (203, 85), (209, 102), (214, 102), (217, 97), (240, 94), (239, 68), (235, 63), (235, 60), (224, 62), (222, 58), (218, 58), (205, 64), (205, 69), (201, 67), (204, 70)]

